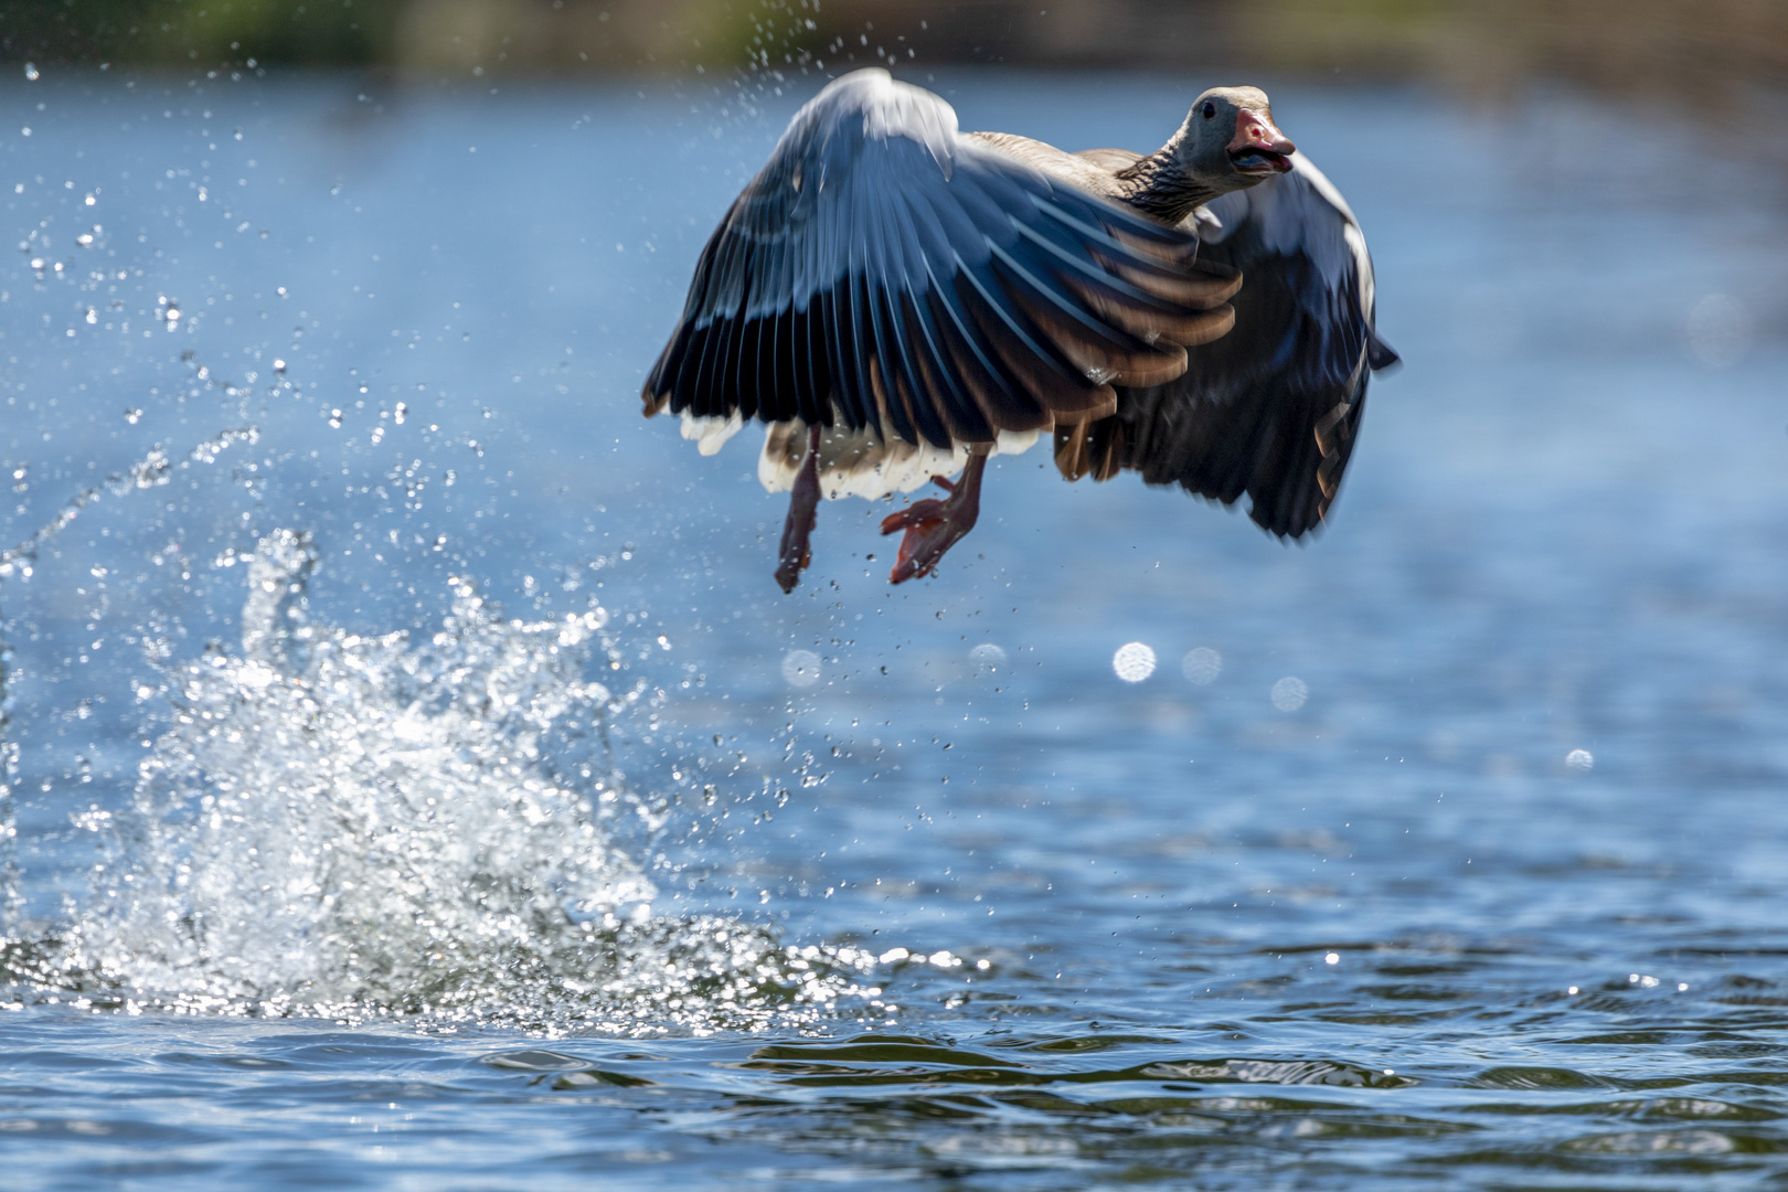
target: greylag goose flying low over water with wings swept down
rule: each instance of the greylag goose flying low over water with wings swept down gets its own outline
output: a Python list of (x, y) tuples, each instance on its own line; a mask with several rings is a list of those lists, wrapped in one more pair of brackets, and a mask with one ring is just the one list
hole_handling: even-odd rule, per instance
[(987, 461), (1042, 434), (1069, 481), (1248, 493), (1298, 538), (1393, 363), (1359, 222), (1262, 91), (1202, 93), (1153, 154), (1069, 154), (960, 132), (867, 68), (803, 105), (733, 200), (642, 397), (703, 456), (765, 424), (787, 593), (821, 499), (946, 491), (883, 520), (898, 584), (974, 527)]

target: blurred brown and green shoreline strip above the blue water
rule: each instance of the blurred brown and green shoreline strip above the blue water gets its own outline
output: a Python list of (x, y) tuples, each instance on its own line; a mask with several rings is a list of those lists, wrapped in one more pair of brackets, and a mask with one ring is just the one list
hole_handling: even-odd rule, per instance
[[(0, 54), (404, 79), (865, 63), (1554, 79), (1729, 104), (1788, 75), (1774, 0), (7, 0)], [(1775, 122), (1779, 127), (1781, 122)]]

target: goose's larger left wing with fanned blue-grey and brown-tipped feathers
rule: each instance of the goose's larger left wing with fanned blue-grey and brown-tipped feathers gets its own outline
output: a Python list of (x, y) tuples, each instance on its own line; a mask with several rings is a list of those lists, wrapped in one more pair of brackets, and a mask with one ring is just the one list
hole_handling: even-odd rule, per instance
[(645, 381), (645, 413), (992, 441), (1116, 409), (1230, 325), (1198, 241), (957, 132), (860, 70), (819, 93), (733, 202)]

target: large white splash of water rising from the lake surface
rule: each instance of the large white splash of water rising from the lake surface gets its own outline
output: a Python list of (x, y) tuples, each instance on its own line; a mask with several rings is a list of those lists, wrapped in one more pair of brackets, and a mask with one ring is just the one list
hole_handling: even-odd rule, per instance
[(93, 904), (0, 970), (93, 1004), (415, 1013), (536, 1028), (751, 1024), (880, 1004), (855, 949), (776, 947), (738, 920), (654, 917), (615, 844), (658, 827), (608, 760), (615, 699), (581, 672), (606, 613), (504, 620), (468, 581), (426, 643), (313, 624), (318, 554), (249, 559), (241, 652), (166, 676), (170, 727)]

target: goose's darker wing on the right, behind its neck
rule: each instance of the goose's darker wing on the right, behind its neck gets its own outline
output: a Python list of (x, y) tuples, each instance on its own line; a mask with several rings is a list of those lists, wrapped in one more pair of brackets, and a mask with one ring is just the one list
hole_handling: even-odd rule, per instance
[[(1177, 381), (1118, 391), (1118, 413), (1057, 431), (1064, 475), (1143, 474), (1230, 504), (1296, 538), (1328, 513), (1366, 409), (1371, 370), (1396, 363), (1373, 332), (1371, 257), (1346, 200), (1305, 157), (1209, 206), (1203, 257), (1241, 270), (1236, 329), (1189, 354)], [(1191, 225), (1191, 222), (1187, 222)]]

